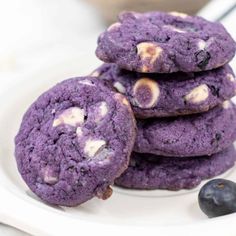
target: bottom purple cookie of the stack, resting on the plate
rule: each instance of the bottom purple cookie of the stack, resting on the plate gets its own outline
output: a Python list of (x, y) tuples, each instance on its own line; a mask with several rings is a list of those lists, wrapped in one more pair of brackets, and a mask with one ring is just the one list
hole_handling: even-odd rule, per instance
[(191, 189), (204, 179), (222, 174), (235, 161), (236, 151), (233, 145), (210, 157), (186, 157), (181, 160), (133, 153), (128, 169), (115, 183), (132, 189)]

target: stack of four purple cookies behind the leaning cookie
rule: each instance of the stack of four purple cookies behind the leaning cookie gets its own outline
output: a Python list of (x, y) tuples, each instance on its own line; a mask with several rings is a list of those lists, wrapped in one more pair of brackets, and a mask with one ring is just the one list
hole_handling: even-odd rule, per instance
[(117, 185), (190, 189), (234, 165), (235, 50), (221, 24), (177, 12), (125, 12), (100, 35), (92, 75), (127, 97), (138, 127)]

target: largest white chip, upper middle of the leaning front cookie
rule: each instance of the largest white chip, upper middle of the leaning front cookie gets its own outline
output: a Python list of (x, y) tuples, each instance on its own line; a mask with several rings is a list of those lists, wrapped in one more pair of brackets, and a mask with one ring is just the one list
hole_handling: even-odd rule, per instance
[(54, 121), (53, 127), (58, 125), (77, 126), (84, 123), (85, 112), (79, 107), (71, 107), (63, 111)]

